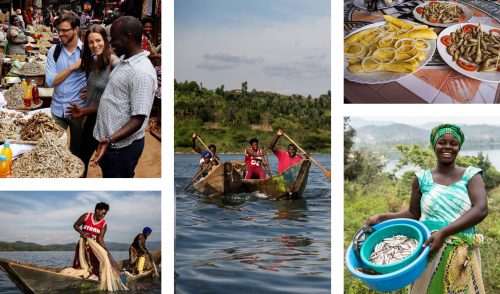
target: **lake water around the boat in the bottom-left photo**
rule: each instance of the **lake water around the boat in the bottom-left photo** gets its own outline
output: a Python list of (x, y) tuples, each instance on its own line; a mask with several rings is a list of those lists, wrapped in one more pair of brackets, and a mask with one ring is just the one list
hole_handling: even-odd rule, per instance
[[(111, 255), (115, 260), (128, 259), (127, 251), (111, 251)], [(74, 251), (43, 251), (43, 252), (0, 251), (0, 258), (9, 260), (19, 260), (31, 264), (54, 267), (54, 268), (70, 267), (73, 263), (73, 257), (74, 257)], [(127, 293), (134, 293), (134, 294), (161, 293), (161, 283), (159, 280), (144, 281), (132, 285), (131, 288), (133, 288), (133, 290)], [(0, 271), (0, 293), (22, 294), (22, 292), (16, 287), (16, 285), (2, 271)], [(50, 291), (50, 293), (70, 294), (70, 293), (75, 293), (75, 290)], [(107, 292), (103, 291), (98, 293), (107, 293)]]

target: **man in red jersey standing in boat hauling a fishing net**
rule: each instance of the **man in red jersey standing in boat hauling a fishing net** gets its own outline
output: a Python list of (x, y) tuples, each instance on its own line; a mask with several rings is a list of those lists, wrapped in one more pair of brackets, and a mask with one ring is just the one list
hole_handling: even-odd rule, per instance
[[(73, 228), (80, 234), (84, 240), (91, 238), (95, 240), (104, 249), (104, 234), (108, 228), (107, 222), (104, 219), (109, 211), (109, 205), (104, 202), (99, 202), (96, 204), (94, 212), (88, 212), (82, 214), (78, 220), (73, 224)], [(106, 249), (107, 250), (107, 249)], [(80, 263), (80, 244), (76, 244), (75, 257), (73, 259), (73, 268), (82, 268)], [(88, 264), (92, 267), (92, 273), (99, 277), (99, 260), (92, 252), (90, 247), (86, 248), (88, 256)]]

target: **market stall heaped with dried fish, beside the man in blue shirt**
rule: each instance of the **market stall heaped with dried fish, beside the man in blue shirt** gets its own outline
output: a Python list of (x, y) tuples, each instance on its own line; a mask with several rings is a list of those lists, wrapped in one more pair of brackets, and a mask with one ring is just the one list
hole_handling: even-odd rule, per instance
[[(50, 112), (52, 88), (45, 88), (45, 62), (52, 33), (29, 26), (26, 54), (2, 56), (0, 150), (12, 150), (10, 177), (81, 177), (83, 162), (68, 148), (66, 132)], [(9, 145), (7, 144), (7, 145)]]

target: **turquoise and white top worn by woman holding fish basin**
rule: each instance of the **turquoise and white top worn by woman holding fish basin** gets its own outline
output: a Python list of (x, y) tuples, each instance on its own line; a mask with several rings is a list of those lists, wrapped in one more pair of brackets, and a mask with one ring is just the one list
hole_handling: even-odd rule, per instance
[[(416, 176), (420, 184), (420, 221), (429, 230), (435, 231), (457, 220), (472, 207), (467, 185), (480, 168), (468, 167), (462, 178), (449, 186), (435, 183), (431, 170), (419, 171)], [(464, 230), (464, 234), (475, 234), (476, 227)]]

